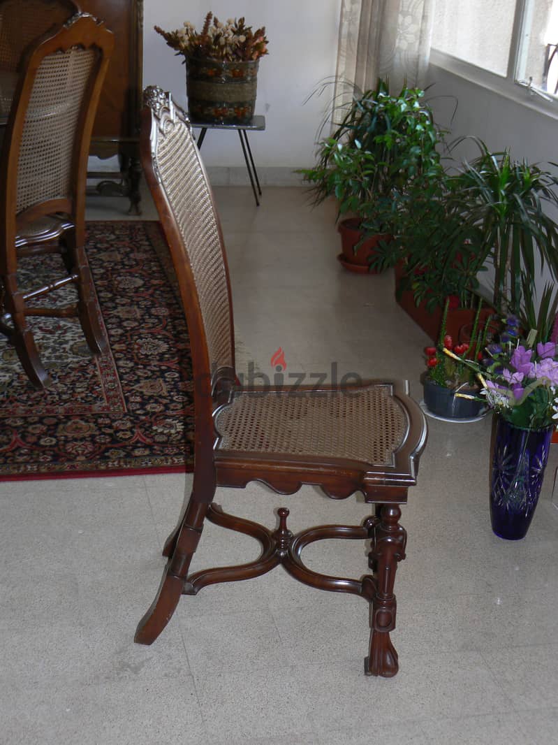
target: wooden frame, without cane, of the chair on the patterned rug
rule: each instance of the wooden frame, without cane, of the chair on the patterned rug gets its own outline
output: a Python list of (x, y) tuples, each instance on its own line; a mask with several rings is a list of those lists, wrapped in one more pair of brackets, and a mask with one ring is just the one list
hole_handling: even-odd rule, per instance
[[(0, 332), (7, 335), (13, 343), (25, 373), (37, 388), (48, 385), (50, 378), (42, 365), (26, 317), (77, 316), (92, 352), (98, 354), (106, 346), (106, 339), (97, 320), (92, 278), (84, 248), (85, 199), (89, 142), (100, 89), (113, 45), (112, 33), (86, 13), (78, 13), (62, 28), (47, 32), (28, 51), (22, 63), (22, 74), (16, 86), (7, 121), (5, 136), (6, 142), (10, 142), (10, 147), (4, 148), (0, 161), (0, 283), (3, 286)], [(74, 46), (94, 47), (98, 50), (98, 55), (77, 121), (78, 136), (74, 140), (74, 150), (71, 153), (70, 193), (59, 199), (33, 204), (16, 215), (19, 152), (36, 74), (42, 60), (49, 54), (66, 51)], [(57, 218), (60, 218), (54, 221), (53, 229), (40, 235), (33, 232), (33, 223), (49, 215), (57, 215)], [(19, 288), (16, 276), (19, 257), (55, 251), (62, 254), (68, 270), (67, 276), (24, 294)], [(28, 300), (57, 290), (68, 282), (74, 282), (77, 286), (79, 299), (76, 305), (64, 308), (30, 308), (27, 305)]]

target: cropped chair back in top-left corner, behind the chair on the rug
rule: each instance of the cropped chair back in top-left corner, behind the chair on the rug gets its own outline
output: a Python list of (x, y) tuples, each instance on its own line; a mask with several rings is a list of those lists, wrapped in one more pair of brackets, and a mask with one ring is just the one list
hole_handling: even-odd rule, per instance
[(79, 10), (72, 0), (1, 0), (0, 70), (16, 72), (29, 45)]

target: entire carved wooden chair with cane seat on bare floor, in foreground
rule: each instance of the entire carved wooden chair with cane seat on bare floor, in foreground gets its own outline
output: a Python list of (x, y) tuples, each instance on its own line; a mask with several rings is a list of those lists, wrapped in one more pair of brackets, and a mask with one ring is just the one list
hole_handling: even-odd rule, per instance
[[(167, 539), (161, 586), (135, 635), (151, 644), (170, 621), (182, 594), (213, 583), (258, 577), (281, 564), (295, 579), (333, 592), (350, 592), (372, 606), (365, 672), (393, 676), (397, 653), (394, 579), (405, 558), (399, 505), (416, 483), (426, 422), (402, 381), (365, 381), (352, 387), (240, 387), (234, 372), (231, 291), (219, 219), (185, 113), (161, 89), (146, 90), (141, 149), (147, 183), (170, 247), (192, 346), (195, 389), (193, 489)], [(321, 486), (334, 499), (357, 490), (375, 504), (362, 525), (321, 525), (293, 536), (289, 510), (279, 525), (226, 514), (214, 504), (217, 486), (262, 481), (281, 494), (302, 484)], [(204, 519), (258, 539), (262, 554), (243, 565), (188, 574)], [(305, 546), (322, 539), (371, 540), (362, 580), (318, 574), (304, 565)]]

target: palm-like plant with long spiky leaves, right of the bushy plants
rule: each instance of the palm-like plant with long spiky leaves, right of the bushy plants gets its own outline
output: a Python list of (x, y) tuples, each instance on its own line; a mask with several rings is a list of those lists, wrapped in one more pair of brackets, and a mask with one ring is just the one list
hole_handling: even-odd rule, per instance
[(525, 293), (533, 294), (538, 263), (558, 278), (558, 225), (545, 212), (558, 207), (558, 178), (477, 142), (481, 155), (449, 177), (449, 187), (464, 223), (478, 229), (481, 264), (493, 264), (496, 309), (519, 315)]

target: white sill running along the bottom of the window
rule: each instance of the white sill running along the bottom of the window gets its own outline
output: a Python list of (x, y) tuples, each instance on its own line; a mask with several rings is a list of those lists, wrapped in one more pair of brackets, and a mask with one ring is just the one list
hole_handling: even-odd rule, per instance
[(497, 95), (501, 95), (503, 98), (519, 104), (519, 106), (536, 111), (548, 118), (558, 120), (558, 99), (556, 101), (545, 101), (544, 98), (540, 98), (536, 93), (530, 93), (526, 88), (519, 86), (517, 83), (512, 83), (511, 80), (505, 77), (500, 77), (481, 67), (476, 67), (463, 60), (458, 60), (457, 57), (452, 57), (450, 54), (443, 54), (443, 52), (437, 51), (437, 49), (431, 50), (430, 64), (434, 68), (451, 72), (452, 75), (462, 77), (469, 83), (474, 83)]

